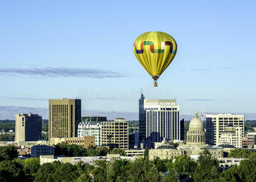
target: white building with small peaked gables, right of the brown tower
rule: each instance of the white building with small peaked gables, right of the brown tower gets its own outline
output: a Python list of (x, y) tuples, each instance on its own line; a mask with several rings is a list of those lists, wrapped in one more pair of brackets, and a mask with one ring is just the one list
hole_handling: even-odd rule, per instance
[(95, 136), (95, 146), (101, 145), (101, 123), (80, 122), (77, 130), (78, 137)]

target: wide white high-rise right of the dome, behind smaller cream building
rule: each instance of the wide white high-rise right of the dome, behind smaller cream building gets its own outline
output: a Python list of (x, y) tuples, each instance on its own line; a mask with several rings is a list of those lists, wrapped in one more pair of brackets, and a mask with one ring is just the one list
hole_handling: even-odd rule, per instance
[(242, 136), (244, 136), (244, 115), (230, 113), (206, 115), (206, 143), (218, 146), (221, 132), (224, 132), (225, 127), (229, 126), (229, 124), (242, 127)]

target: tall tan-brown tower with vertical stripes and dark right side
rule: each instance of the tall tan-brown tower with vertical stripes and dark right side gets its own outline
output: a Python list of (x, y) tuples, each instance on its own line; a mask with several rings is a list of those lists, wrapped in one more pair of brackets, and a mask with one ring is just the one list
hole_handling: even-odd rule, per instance
[(80, 99), (49, 99), (49, 140), (76, 137), (80, 118)]

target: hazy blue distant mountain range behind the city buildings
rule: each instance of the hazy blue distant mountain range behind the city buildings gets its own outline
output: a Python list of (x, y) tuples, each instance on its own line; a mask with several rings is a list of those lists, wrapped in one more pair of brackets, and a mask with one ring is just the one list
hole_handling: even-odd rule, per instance
[[(15, 120), (15, 113), (37, 113), (43, 119), (48, 119), (48, 108), (43, 107), (18, 107), (18, 106), (0, 106), (0, 120)], [(216, 113), (205, 113), (216, 114)], [(256, 120), (256, 113), (236, 113), (244, 115), (245, 120)], [(126, 118), (126, 120), (138, 120), (138, 112), (115, 112), (101, 110), (82, 110), (82, 116), (107, 116), (107, 120), (115, 118)], [(181, 113), (180, 118), (186, 121), (191, 120), (194, 113)]]

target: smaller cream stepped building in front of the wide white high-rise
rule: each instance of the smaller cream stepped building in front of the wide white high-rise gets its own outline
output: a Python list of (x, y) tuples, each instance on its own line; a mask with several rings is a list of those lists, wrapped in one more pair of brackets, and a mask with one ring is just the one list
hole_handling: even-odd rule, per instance
[(224, 132), (219, 136), (219, 144), (230, 144), (236, 148), (242, 148), (242, 131), (243, 128), (229, 124), (225, 127)]

